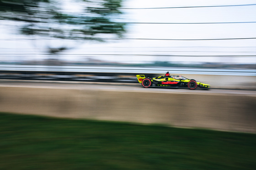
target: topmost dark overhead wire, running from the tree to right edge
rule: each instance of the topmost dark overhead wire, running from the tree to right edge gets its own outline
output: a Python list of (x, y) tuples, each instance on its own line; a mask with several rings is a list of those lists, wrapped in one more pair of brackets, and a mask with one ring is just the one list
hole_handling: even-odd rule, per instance
[(119, 8), (122, 10), (147, 10), (147, 9), (172, 9), (172, 8), (209, 8), (209, 7), (229, 7), (229, 6), (252, 6), (256, 4), (245, 5), (212, 5), (212, 6), (177, 6), (177, 7), (154, 7), (154, 8)]

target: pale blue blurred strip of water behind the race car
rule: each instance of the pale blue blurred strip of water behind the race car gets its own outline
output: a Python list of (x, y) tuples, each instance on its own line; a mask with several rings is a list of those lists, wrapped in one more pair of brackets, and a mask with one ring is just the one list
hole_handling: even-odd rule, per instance
[(0, 71), (51, 71), (80, 73), (149, 73), (199, 74), (199, 75), (247, 75), (256, 76), (256, 70), (245, 69), (203, 69), (172, 67), (124, 67), (124, 66), (52, 66), (52, 65), (0, 65)]

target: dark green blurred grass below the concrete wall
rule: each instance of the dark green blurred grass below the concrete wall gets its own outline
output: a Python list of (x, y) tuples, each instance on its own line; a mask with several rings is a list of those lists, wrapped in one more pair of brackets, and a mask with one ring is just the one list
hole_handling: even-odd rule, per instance
[(0, 113), (1, 170), (255, 170), (256, 134)]

